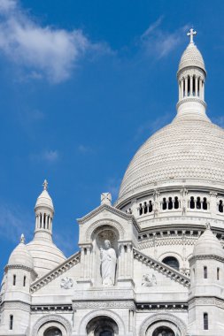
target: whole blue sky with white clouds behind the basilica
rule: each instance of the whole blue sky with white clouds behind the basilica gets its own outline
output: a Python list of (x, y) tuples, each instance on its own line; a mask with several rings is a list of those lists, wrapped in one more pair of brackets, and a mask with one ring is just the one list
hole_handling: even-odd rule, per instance
[(174, 118), (189, 38), (208, 73), (205, 100), (224, 126), (224, 2), (0, 0), (0, 267), (35, 228), (43, 179), (54, 241), (77, 250), (101, 192), (116, 200), (131, 157)]

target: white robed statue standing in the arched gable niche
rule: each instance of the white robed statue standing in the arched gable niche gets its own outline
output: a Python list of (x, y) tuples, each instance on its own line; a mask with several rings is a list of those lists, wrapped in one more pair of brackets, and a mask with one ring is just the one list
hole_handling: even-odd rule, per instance
[(117, 256), (114, 248), (111, 247), (111, 241), (104, 241), (104, 247), (100, 248), (102, 284), (104, 286), (113, 286)]

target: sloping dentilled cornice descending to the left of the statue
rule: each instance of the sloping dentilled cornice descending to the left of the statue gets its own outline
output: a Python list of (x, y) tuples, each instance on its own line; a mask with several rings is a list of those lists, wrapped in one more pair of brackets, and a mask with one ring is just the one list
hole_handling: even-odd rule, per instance
[(43, 275), (42, 278), (35, 280), (30, 286), (31, 294), (38, 291), (43, 286), (49, 284), (52, 280), (57, 279), (65, 271), (70, 270), (73, 265), (80, 263), (81, 252), (76, 252), (73, 256), (66, 259), (65, 262), (60, 263), (54, 270), (49, 271), (47, 274)]

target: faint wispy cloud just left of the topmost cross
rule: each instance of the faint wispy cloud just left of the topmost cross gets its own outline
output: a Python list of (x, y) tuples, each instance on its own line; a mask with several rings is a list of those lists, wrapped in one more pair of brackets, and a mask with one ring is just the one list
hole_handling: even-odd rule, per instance
[(189, 25), (185, 25), (174, 32), (167, 32), (161, 27), (162, 21), (163, 17), (160, 17), (153, 22), (140, 39), (143, 50), (158, 59), (166, 57), (173, 51), (182, 42), (182, 34), (189, 28)]

